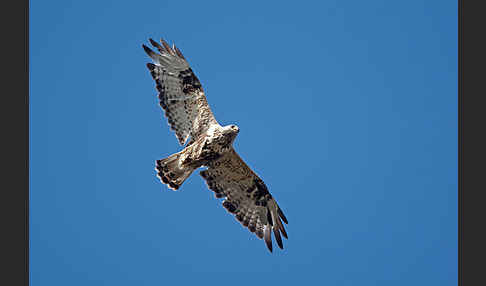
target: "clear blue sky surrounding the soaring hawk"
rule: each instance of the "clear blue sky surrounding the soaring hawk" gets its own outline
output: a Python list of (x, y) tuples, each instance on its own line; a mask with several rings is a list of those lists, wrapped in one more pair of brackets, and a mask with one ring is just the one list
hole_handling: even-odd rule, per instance
[[(283, 251), (156, 178), (149, 37), (240, 127)], [(457, 285), (457, 1), (31, 1), (30, 108), (33, 286)]]

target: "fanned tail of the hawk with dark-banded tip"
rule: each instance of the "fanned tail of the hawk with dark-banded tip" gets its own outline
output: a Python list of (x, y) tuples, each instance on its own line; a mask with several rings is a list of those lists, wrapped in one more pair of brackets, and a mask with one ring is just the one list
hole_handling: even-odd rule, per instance
[(173, 154), (165, 159), (157, 160), (155, 170), (160, 181), (172, 190), (177, 190), (194, 171), (189, 166), (181, 166), (181, 153)]

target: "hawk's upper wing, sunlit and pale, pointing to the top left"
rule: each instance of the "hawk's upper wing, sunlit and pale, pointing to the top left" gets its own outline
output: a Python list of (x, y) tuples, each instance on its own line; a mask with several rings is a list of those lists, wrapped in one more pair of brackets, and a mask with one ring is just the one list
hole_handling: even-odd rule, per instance
[(154, 62), (148, 63), (147, 67), (155, 80), (160, 106), (165, 111), (169, 125), (175, 131), (179, 143), (184, 145), (189, 136), (195, 140), (216, 120), (199, 79), (181, 51), (175, 45), (171, 48), (162, 39), (162, 45), (152, 39), (150, 43), (160, 53), (142, 45)]

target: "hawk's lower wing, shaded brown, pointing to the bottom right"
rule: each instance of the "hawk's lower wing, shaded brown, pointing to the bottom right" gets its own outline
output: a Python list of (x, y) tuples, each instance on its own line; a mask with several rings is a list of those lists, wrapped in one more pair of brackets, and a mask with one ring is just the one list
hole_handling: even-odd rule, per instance
[(272, 251), (272, 231), (278, 246), (283, 249), (282, 235), (287, 232), (281, 222), (287, 218), (268, 192), (265, 183), (243, 162), (234, 149), (208, 164), (201, 171), (216, 198), (225, 198), (223, 206), (235, 215), (241, 224), (264, 239)]

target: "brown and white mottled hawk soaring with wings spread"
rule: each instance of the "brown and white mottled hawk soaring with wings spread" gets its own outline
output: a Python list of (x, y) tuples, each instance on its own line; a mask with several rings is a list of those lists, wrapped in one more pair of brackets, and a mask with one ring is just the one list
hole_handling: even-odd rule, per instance
[(185, 148), (156, 161), (157, 177), (172, 190), (199, 167), (208, 188), (216, 198), (224, 198), (223, 207), (240, 223), (264, 239), (272, 252), (272, 232), (283, 249), (280, 233), (287, 237), (282, 224), (287, 218), (265, 183), (245, 164), (233, 148), (238, 135), (236, 125), (221, 126), (214, 118), (204, 90), (181, 51), (161, 39), (149, 39), (159, 51), (142, 45), (153, 63), (147, 63), (159, 92), (160, 106), (170, 128)]

